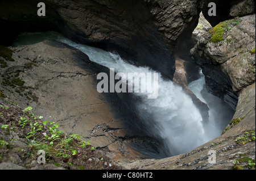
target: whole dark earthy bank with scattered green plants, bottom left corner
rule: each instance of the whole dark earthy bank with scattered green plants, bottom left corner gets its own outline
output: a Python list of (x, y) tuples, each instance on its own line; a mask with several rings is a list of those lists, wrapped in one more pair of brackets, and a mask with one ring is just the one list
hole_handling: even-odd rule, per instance
[[(3, 99), (5, 98), (1, 100)], [(90, 141), (81, 140), (78, 134), (67, 135), (60, 131), (59, 124), (44, 121), (42, 116), (35, 116), (32, 113), (32, 107), (20, 110), (15, 105), (14, 103), (6, 106), (1, 103), (0, 106), (0, 149), (8, 150), (0, 153), (0, 162), (1, 159), (8, 159), (7, 153), (15, 151), (16, 155), (22, 159), (20, 164), (30, 169), (31, 161), (36, 161), (38, 158), (38, 151), (44, 150), (46, 164), (53, 163), (65, 169), (121, 169), (113, 165), (106, 155), (94, 149)], [(2, 138), (3, 134), (13, 133), (22, 137), (25, 148), (16, 148), (12, 144), (12, 141), (16, 139), (10, 141)], [(105, 165), (106, 162), (109, 164)]]

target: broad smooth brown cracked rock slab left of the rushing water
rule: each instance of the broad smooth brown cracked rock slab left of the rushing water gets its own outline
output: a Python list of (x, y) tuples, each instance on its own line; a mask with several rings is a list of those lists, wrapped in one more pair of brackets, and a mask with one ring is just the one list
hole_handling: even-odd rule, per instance
[(109, 150), (107, 154), (115, 161), (140, 158), (130, 142), (150, 139), (132, 137), (124, 121), (132, 117), (130, 110), (115, 93), (97, 92), (97, 74), (109, 69), (53, 40), (11, 50), (14, 61), (5, 60), (0, 77), (6, 96), (23, 109), (31, 106), (36, 116), (54, 121), (67, 134), (79, 134), (95, 148)]

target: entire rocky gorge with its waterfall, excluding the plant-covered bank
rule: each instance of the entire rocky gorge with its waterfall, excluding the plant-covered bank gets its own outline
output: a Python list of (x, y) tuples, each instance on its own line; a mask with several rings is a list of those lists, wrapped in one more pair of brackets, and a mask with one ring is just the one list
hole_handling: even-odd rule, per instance
[[(47, 0), (46, 16), (37, 3), (1, 2), (2, 95), (124, 169), (255, 163), (254, 1)], [(97, 75), (112, 69), (158, 73), (150, 81), (157, 98), (148, 99), (150, 90), (98, 92)]]

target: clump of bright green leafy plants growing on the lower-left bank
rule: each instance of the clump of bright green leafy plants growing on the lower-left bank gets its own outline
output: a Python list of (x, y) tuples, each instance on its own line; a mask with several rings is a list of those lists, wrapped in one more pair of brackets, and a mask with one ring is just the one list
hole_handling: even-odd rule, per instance
[[(43, 117), (35, 117), (34, 114), (29, 112), (31, 110), (32, 107), (27, 107), (23, 112), (34, 120), (31, 121), (26, 116), (23, 116), (20, 117), (19, 125), (23, 129), (26, 128), (27, 144), (31, 146), (32, 150), (45, 150), (48, 158), (52, 156), (69, 158), (77, 154), (77, 149), (86, 148), (87, 145), (90, 145), (89, 141), (81, 141), (80, 136), (77, 134), (67, 136), (64, 132), (59, 131), (57, 129), (60, 127), (59, 124), (38, 121)], [(43, 129), (44, 133), (41, 134)], [(76, 142), (73, 142), (74, 140)], [(94, 150), (94, 148), (92, 147), (91, 150)]]

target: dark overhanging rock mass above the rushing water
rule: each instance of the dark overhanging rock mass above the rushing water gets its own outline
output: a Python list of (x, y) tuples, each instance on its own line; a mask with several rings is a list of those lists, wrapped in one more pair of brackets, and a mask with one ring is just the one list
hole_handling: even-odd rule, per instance
[(23, 31), (57, 30), (77, 43), (115, 50), (172, 79), (176, 41), (187, 39), (196, 27), (200, 2), (47, 0), (46, 16), (40, 17), (36, 1), (1, 2), (1, 41), (8, 45)]

